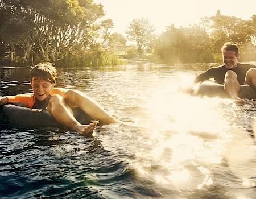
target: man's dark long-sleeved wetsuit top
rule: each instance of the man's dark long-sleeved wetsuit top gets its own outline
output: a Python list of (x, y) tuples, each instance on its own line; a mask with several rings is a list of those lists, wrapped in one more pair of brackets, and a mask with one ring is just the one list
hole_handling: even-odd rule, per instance
[(245, 83), (245, 76), (247, 71), (250, 68), (256, 68), (253, 64), (237, 64), (236, 68), (228, 69), (225, 65), (220, 67), (209, 68), (204, 73), (199, 74), (196, 77), (196, 82), (201, 82), (204, 80), (209, 80), (210, 78), (214, 78), (215, 82), (218, 84), (224, 84), (225, 74), (227, 71), (231, 70), (237, 74), (237, 81), (240, 85)]

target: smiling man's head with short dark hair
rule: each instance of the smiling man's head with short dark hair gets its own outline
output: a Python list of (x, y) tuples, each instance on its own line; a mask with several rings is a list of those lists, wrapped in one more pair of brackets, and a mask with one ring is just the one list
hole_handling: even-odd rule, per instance
[(240, 58), (237, 44), (226, 42), (221, 47), (223, 62), (228, 69), (237, 67), (238, 59)]

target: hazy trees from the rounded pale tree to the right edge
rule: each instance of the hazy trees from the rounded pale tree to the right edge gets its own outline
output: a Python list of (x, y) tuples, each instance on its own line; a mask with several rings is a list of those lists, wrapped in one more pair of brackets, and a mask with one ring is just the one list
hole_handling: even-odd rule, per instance
[[(189, 28), (168, 26), (161, 35), (154, 35), (154, 27), (146, 19), (134, 19), (127, 30), (130, 40), (137, 43), (139, 57), (163, 64), (221, 62), (221, 47), (225, 42), (237, 43), (241, 61), (256, 60), (256, 14), (251, 20), (221, 15), (202, 18)], [(127, 49), (127, 52), (131, 48)], [(150, 53), (150, 55), (148, 55)]]

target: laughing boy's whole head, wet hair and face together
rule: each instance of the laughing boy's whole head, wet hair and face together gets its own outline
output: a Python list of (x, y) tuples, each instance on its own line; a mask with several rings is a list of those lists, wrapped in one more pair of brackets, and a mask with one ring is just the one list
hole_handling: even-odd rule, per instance
[(31, 67), (31, 87), (36, 99), (43, 101), (55, 86), (57, 70), (54, 64), (40, 63)]

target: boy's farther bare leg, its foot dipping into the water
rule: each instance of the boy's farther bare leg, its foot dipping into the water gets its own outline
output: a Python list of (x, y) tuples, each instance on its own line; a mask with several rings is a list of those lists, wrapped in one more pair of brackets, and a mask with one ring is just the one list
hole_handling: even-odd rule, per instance
[(78, 90), (68, 90), (63, 98), (69, 107), (80, 107), (85, 113), (99, 119), (104, 124), (120, 122), (102, 109), (96, 101)]

